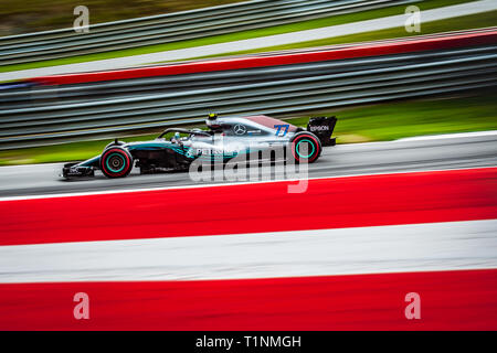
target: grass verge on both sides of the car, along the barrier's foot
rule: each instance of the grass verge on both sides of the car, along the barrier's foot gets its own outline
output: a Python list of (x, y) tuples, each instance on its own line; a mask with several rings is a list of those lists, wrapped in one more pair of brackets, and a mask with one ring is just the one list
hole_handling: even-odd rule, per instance
[[(311, 116), (336, 115), (338, 143), (388, 141), (421, 135), (497, 129), (495, 94), (437, 99), (393, 101), (381, 105), (320, 111)], [(286, 119), (306, 126), (309, 116)], [(154, 139), (157, 133), (126, 138)], [(0, 165), (84, 160), (101, 153), (112, 139), (0, 151)]]

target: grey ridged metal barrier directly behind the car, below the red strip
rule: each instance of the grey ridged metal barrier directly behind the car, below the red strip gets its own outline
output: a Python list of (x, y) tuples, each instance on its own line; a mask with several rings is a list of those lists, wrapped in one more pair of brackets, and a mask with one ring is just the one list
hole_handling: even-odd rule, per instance
[[(361, 45), (347, 58), (0, 90), (0, 149), (201, 122), (209, 111), (289, 115), (497, 86), (495, 29)], [(295, 53), (260, 58), (276, 56)]]

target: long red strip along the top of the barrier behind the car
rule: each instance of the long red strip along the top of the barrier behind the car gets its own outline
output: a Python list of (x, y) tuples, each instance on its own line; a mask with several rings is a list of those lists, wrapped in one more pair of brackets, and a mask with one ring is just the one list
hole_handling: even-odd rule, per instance
[(63, 85), (98, 81), (141, 78), (165, 75), (205, 73), (276, 65), (303, 64), (330, 60), (388, 55), (429, 50), (464, 47), (467, 45), (484, 45), (497, 42), (497, 31), (454, 32), (447, 36), (426, 35), (423, 38), (383, 41), (356, 45), (337, 45), (330, 49), (308, 52), (289, 52), (284, 55), (255, 55), (231, 60), (192, 62), (177, 65), (154, 66), (110, 72), (53, 75), (31, 79), (35, 83)]

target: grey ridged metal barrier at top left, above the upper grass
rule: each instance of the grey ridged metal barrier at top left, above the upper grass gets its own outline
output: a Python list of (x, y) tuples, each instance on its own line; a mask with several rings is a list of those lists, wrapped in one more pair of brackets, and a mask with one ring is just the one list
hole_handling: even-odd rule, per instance
[(417, 0), (254, 0), (191, 11), (0, 38), (0, 65), (163, 44), (390, 7)]

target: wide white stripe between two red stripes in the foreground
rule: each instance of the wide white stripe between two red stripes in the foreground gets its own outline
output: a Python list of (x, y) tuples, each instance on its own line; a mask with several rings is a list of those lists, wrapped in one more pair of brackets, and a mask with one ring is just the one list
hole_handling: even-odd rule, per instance
[(0, 247), (0, 282), (200, 280), (475, 268), (497, 268), (497, 220)]

